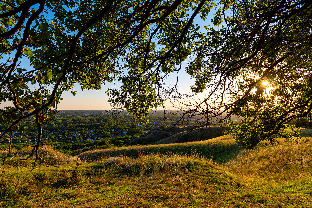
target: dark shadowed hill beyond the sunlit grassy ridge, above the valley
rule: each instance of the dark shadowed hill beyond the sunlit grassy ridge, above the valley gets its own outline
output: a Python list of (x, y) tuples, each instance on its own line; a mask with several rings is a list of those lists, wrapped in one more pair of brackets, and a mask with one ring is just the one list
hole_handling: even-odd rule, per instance
[[(164, 127), (160, 126), (150, 130), (140, 137), (130, 140), (131, 143), (166, 144), (182, 143), (191, 141), (203, 141), (224, 135), (224, 131), (229, 130), (227, 126), (207, 126), (194, 128), (186, 127)], [(141, 141), (141, 142), (139, 142)]]

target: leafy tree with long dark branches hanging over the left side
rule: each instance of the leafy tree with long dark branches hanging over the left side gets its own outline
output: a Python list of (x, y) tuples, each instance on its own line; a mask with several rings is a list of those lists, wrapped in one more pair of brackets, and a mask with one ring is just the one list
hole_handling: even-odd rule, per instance
[[(2, 2), (0, 102), (13, 105), (1, 109), (2, 131), (12, 132), (33, 117), (39, 132), (32, 156), (41, 127), (54, 119), (64, 91), (76, 83), (82, 90), (100, 89), (115, 75), (132, 86), (123, 107), (144, 119), (148, 109), (161, 105), (154, 88), (160, 84), (161, 69), (186, 59), (192, 43), (183, 38), (197, 37), (193, 19), (210, 5), (204, 0)], [(187, 10), (193, 12), (191, 17)], [(25, 58), (33, 69), (21, 65)], [(156, 75), (151, 77), (151, 72)], [(115, 89), (108, 94), (119, 96)]]

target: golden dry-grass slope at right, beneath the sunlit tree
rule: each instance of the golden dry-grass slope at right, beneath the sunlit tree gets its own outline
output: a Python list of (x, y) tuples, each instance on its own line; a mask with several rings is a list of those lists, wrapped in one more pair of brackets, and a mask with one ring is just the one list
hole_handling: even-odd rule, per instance
[(243, 150), (226, 164), (239, 175), (276, 182), (312, 177), (312, 139), (300, 143), (278, 139), (279, 144)]

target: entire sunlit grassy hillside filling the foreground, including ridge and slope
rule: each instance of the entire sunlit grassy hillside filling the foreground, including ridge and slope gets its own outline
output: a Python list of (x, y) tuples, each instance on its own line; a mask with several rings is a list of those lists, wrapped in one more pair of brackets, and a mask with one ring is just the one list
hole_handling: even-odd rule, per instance
[(77, 172), (75, 158), (49, 148), (59, 168), (30, 172), (16, 163), (28, 150), (16, 150), (0, 207), (312, 207), (311, 138), (279, 141), (246, 150), (225, 135), (94, 150), (80, 155)]

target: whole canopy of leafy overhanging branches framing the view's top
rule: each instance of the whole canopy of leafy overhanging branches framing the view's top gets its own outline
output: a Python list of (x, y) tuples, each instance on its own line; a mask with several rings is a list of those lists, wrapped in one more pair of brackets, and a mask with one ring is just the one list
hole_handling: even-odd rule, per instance
[[(107, 90), (110, 102), (141, 121), (170, 97), (183, 100), (184, 121), (242, 116), (230, 133), (246, 147), (274, 143), (287, 122), (312, 109), (310, 0), (9, 0), (0, 9), (0, 102), (12, 101), (0, 124), (12, 134), (33, 117), (33, 152), (41, 126), (75, 84), (100, 89), (118, 80), (119, 89)], [(194, 18), (211, 10), (201, 32)], [(165, 83), (185, 61), (192, 91), (206, 92), (204, 100)]]

